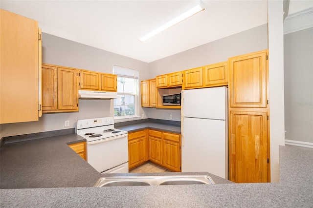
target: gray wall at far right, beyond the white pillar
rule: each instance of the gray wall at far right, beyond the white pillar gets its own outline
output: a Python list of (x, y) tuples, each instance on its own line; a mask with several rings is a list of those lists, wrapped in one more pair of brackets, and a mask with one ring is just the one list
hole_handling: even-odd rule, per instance
[(313, 143), (313, 28), (284, 35), (285, 139)]

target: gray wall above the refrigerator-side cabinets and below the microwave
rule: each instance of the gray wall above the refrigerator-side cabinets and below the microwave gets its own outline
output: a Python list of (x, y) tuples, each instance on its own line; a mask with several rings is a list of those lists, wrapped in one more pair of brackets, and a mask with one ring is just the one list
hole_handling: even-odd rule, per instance
[[(227, 61), (229, 57), (268, 49), (268, 24), (149, 63), (150, 77)], [(149, 109), (149, 118), (180, 121), (180, 110)]]

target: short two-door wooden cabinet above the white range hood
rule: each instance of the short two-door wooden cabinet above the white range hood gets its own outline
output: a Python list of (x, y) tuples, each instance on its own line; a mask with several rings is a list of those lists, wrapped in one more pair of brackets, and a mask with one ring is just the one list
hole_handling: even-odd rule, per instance
[(79, 88), (83, 90), (117, 91), (117, 76), (94, 71), (79, 71)]

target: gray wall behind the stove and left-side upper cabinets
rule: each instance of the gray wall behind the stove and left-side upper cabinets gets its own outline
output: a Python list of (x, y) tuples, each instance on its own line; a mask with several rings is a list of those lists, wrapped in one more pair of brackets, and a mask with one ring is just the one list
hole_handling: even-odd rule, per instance
[[(43, 33), (42, 40), (43, 63), (111, 74), (113, 65), (119, 65), (138, 70), (139, 80), (149, 79), (149, 65), (146, 62), (45, 33)], [(140, 99), (138, 102), (140, 103)], [(112, 116), (112, 107), (113, 104), (110, 100), (79, 100), (79, 112), (43, 114), (38, 122), (2, 124), (0, 125), (0, 137), (73, 128), (76, 127), (78, 119)], [(146, 109), (139, 107), (139, 115), (144, 114), (144, 117), (147, 118), (148, 115), (145, 111)], [(70, 126), (64, 127), (67, 120)]]

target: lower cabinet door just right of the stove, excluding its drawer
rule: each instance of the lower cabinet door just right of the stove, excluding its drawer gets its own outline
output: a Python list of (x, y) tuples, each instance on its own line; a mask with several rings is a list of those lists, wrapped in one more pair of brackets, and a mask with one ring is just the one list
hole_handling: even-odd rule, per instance
[(128, 142), (129, 168), (146, 161), (146, 138), (140, 137)]

